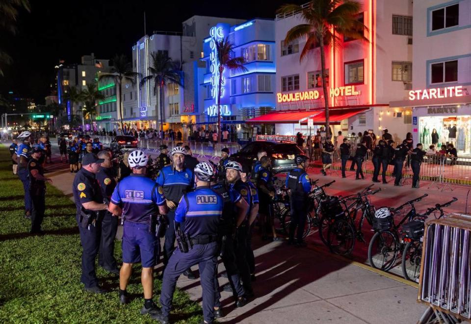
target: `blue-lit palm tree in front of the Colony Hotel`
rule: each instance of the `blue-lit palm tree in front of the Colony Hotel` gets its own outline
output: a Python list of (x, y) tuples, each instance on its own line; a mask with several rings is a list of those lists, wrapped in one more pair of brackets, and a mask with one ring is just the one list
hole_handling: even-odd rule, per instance
[(213, 42), (216, 45), (216, 60), (219, 65), (219, 82), (217, 86), (217, 141), (221, 140), (221, 88), (222, 88), (222, 72), (224, 69), (230, 71), (247, 72), (248, 69), (244, 67), (245, 59), (242, 56), (234, 57), (234, 44), (223, 38), (219, 42), (214, 38)]

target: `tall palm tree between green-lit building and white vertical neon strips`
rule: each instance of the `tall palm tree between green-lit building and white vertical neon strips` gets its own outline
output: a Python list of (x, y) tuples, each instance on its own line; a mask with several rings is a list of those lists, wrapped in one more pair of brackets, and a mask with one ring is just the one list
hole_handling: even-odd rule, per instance
[(131, 85), (136, 84), (136, 77), (139, 76), (139, 73), (132, 70), (131, 62), (128, 62), (126, 55), (116, 54), (113, 58), (113, 66), (109, 73), (100, 73), (98, 76), (98, 81), (108, 80), (113, 81), (115, 85), (119, 87), (119, 119), (121, 122), (121, 130), (123, 130), (123, 87), (122, 82), (131, 83)]

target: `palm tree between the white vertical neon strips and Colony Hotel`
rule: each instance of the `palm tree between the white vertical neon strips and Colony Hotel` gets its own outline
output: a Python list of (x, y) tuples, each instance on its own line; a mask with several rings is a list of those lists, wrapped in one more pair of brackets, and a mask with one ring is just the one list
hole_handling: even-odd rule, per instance
[[(178, 84), (183, 88), (183, 77), (180, 69), (180, 62), (173, 61), (170, 57), (162, 52), (152, 52), (152, 66), (149, 67), (149, 75), (142, 78), (140, 86), (142, 87), (146, 82), (154, 80), (154, 92), (159, 91), (160, 103), (160, 131), (163, 131), (163, 101), (164, 101), (164, 88), (169, 83)], [(156, 103), (157, 112), (157, 103)], [(158, 114), (157, 114), (158, 120)], [(158, 122), (158, 121), (157, 121)]]

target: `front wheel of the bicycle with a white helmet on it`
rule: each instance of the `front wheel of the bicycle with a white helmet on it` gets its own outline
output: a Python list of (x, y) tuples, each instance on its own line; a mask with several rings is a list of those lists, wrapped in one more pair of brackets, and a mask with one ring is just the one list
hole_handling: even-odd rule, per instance
[(398, 250), (399, 243), (391, 231), (378, 231), (369, 242), (369, 264), (373, 268), (388, 271), (394, 266)]

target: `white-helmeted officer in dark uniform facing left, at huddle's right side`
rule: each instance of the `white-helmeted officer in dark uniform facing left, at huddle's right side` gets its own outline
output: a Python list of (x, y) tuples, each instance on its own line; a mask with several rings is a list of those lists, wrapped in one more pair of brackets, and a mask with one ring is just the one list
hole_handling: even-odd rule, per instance
[[(241, 179), (240, 173), (242, 172), (242, 165), (239, 162), (231, 161), (226, 164), (226, 180), (230, 184), (230, 187), (238, 192), (244, 200), (249, 203), (252, 201), (252, 193), (249, 188)], [(250, 208), (250, 205), (249, 205)], [(245, 295), (248, 297), (254, 296), (252, 290), (252, 282), (250, 278), (250, 267), (247, 262), (247, 235), (248, 235), (248, 219), (250, 209), (243, 219), (238, 219), (235, 225), (235, 257), (237, 268), (240, 273), (240, 277), (243, 282)]]

